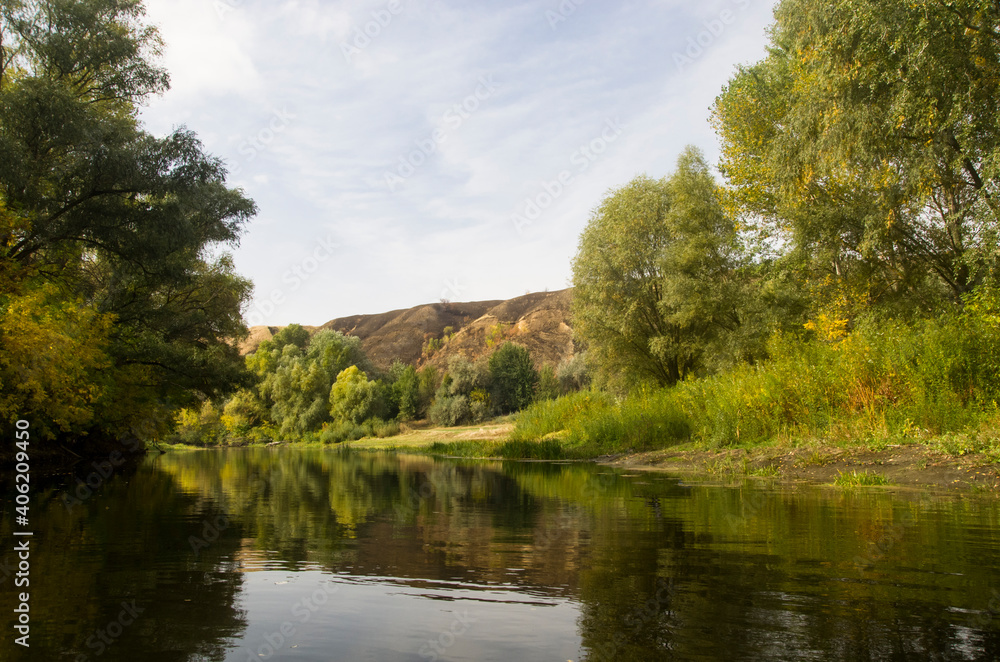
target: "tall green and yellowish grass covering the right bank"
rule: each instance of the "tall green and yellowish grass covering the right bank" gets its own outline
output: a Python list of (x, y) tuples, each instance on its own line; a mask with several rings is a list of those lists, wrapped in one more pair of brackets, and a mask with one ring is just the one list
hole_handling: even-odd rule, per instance
[(964, 313), (910, 325), (861, 322), (836, 343), (775, 337), (770, 358), (621, 400), (584, 392), (539, 403), (511, 439), (559, 439), (601, 454), (693, 440), (866, 441), (961, 431), (996, 416), (1000, 317)]

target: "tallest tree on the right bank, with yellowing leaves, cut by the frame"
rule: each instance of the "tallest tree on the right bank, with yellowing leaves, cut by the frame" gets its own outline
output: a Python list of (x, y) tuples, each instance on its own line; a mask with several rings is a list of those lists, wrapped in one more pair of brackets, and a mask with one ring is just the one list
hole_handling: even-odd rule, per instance
[(820, 308), (927, 311), (998, 276), (1000, 4), (783, 0), (716, 101), (721, 169)]

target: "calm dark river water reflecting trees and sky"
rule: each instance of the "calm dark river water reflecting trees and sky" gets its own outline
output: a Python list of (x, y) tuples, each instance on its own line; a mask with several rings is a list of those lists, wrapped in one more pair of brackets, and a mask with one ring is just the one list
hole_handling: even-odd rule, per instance
[(33, 495), (30, 649), (0, 552), (2, 660), (1000, 659), (995, 497), (290, 448), (89, 477)]

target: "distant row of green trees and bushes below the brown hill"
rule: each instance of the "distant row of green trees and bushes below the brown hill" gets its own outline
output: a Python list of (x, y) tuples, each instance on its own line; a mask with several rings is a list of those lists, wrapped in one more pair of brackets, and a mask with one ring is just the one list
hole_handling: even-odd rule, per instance
[(440, 372), (395, 362), (380, 372), (361, 340), (337, 331), (311, 336), (297, 324), (246, 357), (255, 384), (206, 400), (178, 416), (172, 441), (192, 445), (270, 439), (334, 443), (397, 434), (399, 423), (430, 418), (475, 423), (519, 411), (587, 383), (583, 358), (536, 370), (526, 348), (504, 343), (472, 362), (453, 356)]

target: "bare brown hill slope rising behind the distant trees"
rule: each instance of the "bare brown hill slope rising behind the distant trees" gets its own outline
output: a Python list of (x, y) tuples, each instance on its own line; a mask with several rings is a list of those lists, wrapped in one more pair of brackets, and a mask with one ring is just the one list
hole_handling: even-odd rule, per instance
[[(378, 315), (353, 315), (306, 328), (311, 332), (334, 329), (361, 338), (368, 356), (383, 370), (395, 359), (418, 367), (427, 363), (444, 367), (455, 354), (477, 359), (505, 340), (525, 345), (538, 366), (556, 365), (574, 351), (571, 300), (569, 289), (536, 292), (507, 301), (442, 302)], [(243, 352), (256, 350), (280, 329), (251, 328)], [(440, 343), (439, 348), (429, 347), (432, 339), (436, 342), (430, 344)]]

